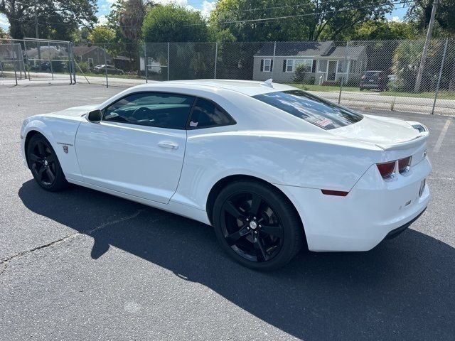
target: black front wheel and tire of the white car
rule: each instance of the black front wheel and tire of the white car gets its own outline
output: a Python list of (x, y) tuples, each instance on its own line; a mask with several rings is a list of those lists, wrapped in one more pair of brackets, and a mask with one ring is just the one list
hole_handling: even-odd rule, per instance
[(43, 135), (36, 134), (31, 137), (26, 156), (28, 168), (41, 188), (55, 192), (68, 186), (57, 154)]

